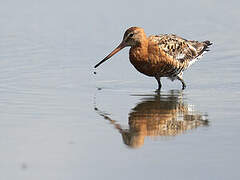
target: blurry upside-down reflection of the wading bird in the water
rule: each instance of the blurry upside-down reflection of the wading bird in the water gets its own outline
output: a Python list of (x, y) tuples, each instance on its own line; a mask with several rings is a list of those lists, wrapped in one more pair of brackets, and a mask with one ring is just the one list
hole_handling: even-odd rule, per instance
[(181, 91), (142, 96), (141, 102), (129, 113), (128, 129), (95, 107), (97, 113), (121, 133), (123, 142), (129, 147), (141, 147), (146, 136), (171, 137), (199, 126), (208, 126), (207, 115), (202, 115), (188, 104)]

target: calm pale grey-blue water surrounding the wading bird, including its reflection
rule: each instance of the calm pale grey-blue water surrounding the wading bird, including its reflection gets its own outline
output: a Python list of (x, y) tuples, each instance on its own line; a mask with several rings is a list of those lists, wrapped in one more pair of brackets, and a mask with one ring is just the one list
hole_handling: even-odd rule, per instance
[[(239, 179), (239, 5), (0, 1), (1, 179)], [(157, 94), (130, 26), (214, 45)]]

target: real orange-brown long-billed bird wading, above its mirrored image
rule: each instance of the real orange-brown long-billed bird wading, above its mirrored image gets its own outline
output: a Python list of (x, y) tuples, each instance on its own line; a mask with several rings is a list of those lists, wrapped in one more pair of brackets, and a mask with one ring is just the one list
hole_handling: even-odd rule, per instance
[(209, 51), (212, 42), (187, 40), (175, 34), (150, 35), (141, 27), (128, 28), (121, 43), (94, 68), (107, 61), (125, 47), (130, 47), (129, 59), (140, 73), (154, 77), (161, 90), (161, 78), (179, 80), (182, 90), (186, 88), (183, 72)]

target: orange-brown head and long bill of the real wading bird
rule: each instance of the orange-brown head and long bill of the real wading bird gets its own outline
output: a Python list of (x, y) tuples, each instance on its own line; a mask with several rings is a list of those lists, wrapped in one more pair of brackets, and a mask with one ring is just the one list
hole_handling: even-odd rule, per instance
[(116, 47), (109, 55), (107, 55), (102, 61), (100, 61), (98, 64), (94, 66), (94, 68), (97, 68), (100, 64), (111, 58), (114, 54), (119, 52), (121, 49), (130, 46), (139, 46), (141, 44), (141, 41), (143, 38), (146, 38), (146, 34), (143, 30), (143, 28), (140, 27), (131, 27), (126, 30), (123, 36), (122, 42)]

